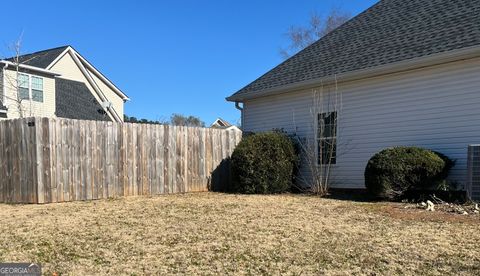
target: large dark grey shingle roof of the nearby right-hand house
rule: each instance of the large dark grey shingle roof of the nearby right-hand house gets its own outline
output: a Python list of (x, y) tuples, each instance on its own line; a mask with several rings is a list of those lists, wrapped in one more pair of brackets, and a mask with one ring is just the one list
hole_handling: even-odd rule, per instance
[(480, 0), (382, 0), (231, 97), (480, 45)]

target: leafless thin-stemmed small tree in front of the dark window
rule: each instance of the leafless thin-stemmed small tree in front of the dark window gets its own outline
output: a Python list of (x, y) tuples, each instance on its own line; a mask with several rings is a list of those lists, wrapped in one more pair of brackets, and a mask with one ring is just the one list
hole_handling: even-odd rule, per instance
[[(336, 163), (338, 122), (342, 111), (342, 96), (337, 81), (327, 88), (322, 84), (312, 89), (309, 125), (304, 137), (297, 137), (301, 154), (299, 181), (317, 195), (324, 196), (332, 180), (332, 165)], [(295, 116), (294, 116), (295, 124)], [(346, 145), (345, 145), (346, 146)], [(342, 146), (342, 148), (346, 148)], [(304, 189), (305, 187), (299, 187)]]

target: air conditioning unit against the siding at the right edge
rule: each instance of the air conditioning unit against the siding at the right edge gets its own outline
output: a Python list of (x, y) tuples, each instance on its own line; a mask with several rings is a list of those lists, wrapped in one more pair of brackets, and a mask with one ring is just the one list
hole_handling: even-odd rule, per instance
[(467, 193), (475, 201), (480, 201), (480, 145), (468, 146)]

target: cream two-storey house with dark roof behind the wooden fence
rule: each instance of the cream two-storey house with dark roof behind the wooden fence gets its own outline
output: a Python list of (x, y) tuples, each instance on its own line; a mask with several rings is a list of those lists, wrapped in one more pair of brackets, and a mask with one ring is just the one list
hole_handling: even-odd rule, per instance
[(0, 60), (0, 118), (123, 121), (128, 97), (71, 46)]

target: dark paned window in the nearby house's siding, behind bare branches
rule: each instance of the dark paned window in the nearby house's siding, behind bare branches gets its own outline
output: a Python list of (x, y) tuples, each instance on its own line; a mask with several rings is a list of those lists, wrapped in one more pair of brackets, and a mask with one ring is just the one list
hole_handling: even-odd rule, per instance
[(337, 163), (337, 112), (318, 114), (317, 159), (319, 165)]

